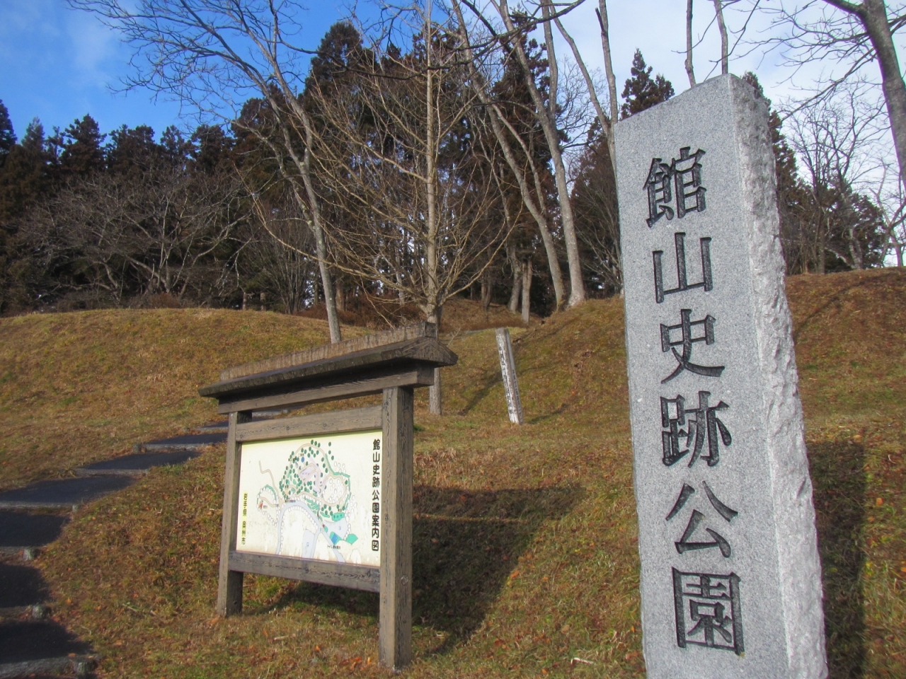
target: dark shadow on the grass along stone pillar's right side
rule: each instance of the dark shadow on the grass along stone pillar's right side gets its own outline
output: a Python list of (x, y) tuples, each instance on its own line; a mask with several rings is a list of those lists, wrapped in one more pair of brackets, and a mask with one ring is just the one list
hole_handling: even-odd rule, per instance
[(867, 641), (863, 607), (866, 479), (862, 445), (809, 445), (818, 550), (824, 579), (828, 679), (864, 675)]

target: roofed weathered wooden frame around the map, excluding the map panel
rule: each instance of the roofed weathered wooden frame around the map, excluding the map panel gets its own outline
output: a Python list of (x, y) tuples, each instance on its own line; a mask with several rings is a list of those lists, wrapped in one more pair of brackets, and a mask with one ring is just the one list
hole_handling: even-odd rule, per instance
[[(246, 573), (361, 589), (380, 595), (379, 661), (392, 670), (412, 656), (412, 479), (414, 389), (457, 356), (433, 324), (389, 330), (284, 357), (228, 368), (199, 389), (227, 416), (226, 473), (217, 614), (242, 612)], [(381, 394), (381, 406), (253, 420), (255, 411)], [(242, 446), (315, 435), (381, 429), (381, 565), (379, 568), (236, 550)]]

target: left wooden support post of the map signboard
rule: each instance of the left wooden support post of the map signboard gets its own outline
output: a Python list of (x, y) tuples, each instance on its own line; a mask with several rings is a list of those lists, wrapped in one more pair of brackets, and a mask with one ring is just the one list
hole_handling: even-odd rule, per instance
[(236, 425), (252, 421), (251, 412), (229, 414), (226, 433), (226, 474), (224, 478), (224, 513), (220, 530), (220, 573), (217, 582), (217, 615), (231, 616), (242, 612), (242, 576), (229, 569), (229, 553), (236, 549), (236, 521), (239, 518), (239, 458), (241, 445), (236, 444)]

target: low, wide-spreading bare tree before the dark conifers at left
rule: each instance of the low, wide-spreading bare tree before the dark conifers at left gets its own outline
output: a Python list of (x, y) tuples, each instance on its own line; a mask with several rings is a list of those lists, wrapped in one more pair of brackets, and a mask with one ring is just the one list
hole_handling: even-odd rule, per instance
[(97, 173), (35, 206), (21, 233), (43, 266), (67, 265), (70, 291), (105, 291), (114, 303), (134, 292), (198, 299), (225, 268), (216, 252), (245, 217), (240, 196), (226, 173)]

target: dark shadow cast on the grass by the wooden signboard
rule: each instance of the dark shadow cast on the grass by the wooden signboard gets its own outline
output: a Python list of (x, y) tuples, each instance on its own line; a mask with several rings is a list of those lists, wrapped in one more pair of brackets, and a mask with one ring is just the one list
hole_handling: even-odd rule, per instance
[[(544, 521), (582, 500), (573, 485), (468, 491), (417, 486), (413, 493), (412, 621), (447, 632), (444, 653), (481, 626)], [(377, 617), (378, 595), (302, 583), (275, 604), (298, 601)]]

